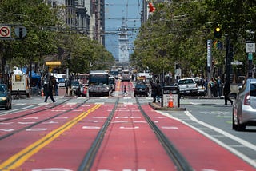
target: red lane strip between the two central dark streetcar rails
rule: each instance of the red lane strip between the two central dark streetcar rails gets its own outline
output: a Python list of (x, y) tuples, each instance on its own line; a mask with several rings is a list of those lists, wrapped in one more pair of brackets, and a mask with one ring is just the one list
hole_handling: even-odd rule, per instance
[(119, 104), (91, 170), (175, 170), (137, 105)]

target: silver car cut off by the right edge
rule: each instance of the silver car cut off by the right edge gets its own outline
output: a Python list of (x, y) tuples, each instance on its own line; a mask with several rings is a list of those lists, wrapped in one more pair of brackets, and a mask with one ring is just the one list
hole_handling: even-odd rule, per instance
[(245, 130), (246, 125), (256, 126), (256, 79), (246, 80), (233, 105), (232, 129)]

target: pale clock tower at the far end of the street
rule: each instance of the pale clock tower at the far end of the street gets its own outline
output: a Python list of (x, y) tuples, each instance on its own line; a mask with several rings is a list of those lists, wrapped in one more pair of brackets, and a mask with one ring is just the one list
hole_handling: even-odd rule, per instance
[(122, 26), (119, 29), (121, 32), (119, 33), (118, 38), (118, 61), (119, 62), (129, 62), (129, 51), (128, 51), (128, 34), (127, 34), (127, 23), (126, 19), (122, 18)]

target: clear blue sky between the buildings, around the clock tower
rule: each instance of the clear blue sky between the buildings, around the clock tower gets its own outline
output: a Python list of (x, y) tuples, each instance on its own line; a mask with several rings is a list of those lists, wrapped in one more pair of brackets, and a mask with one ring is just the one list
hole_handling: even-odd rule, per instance
[[(105, 46), (106, 50), (118, 59), (118, 29), (122, 25), (122, 18), (127, 19), (128, 28), (141, 26), (141, 11), (143, 0), (105, 0)], [(129, 48), (132, 53), (133, 42), (137, 31), (129, 32)]]

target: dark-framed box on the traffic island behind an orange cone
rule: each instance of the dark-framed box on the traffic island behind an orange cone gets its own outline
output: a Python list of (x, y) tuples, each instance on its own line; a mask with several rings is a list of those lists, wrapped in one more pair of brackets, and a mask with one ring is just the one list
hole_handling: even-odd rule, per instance
[(162, 89), (162, 107), (179, 108), (178, 86), (165, 86)]

